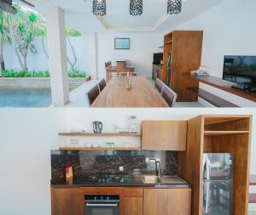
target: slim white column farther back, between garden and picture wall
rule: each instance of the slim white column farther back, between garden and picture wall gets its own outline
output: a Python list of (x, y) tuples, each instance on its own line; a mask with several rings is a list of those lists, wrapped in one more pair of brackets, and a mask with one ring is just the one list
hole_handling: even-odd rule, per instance
[(96, 33), (89, 33), (90, 77), (97, 79)]

